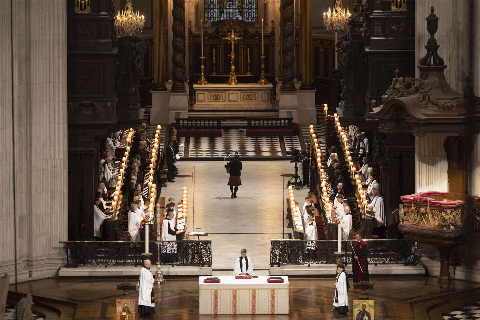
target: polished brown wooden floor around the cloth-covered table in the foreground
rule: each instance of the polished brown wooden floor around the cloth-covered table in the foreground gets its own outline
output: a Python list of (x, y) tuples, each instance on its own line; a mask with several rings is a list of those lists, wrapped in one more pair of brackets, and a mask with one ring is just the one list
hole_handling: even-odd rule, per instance
[[(42, 301), (44, 306), (36, 308), (40, 308), (48, 320), (114, 320), (115, 298), (123, 296), (116, 285), (123, 281), (125, 279), (45, 279), (18, 284), (18, 291), (46, 298)], [(136, 279), (129, 281), (137, 282)], [(463, 281), (440, 286), (436, 278), (401, 277), (372, 278), (372, 283), (374, 290), (369, 294), (375, 300), (376, 320), (442, 319), (442, 312), (478, 301), (480, 297), (480, 284)], [(140, 319), (352, 319), (351, 310), (348, 316), (338, 316), (331, 311), (333, 288), (333, 279), (290, 278), (288, 316), (200, 316), (198, 280), (167, 279), (165, 284), (155, 285), (155, 316)], [(10, 290), (14, 290), (14, 286)], [(359, 295), (359, 290), (350, 290), (349, 304), (353, 305), (353, 299)], [(137, 298), (138, 292), (129, 297)], [(46, 306), (60, 309), (60, 317)]]

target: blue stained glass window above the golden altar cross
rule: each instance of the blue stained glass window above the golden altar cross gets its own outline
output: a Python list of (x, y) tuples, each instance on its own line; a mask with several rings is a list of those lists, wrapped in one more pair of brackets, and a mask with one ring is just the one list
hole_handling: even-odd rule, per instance
[(243, 22), (255, 22), (258, 16), (258, 0), (205, 0), (205, 20), (221, 22), (233, 18)]

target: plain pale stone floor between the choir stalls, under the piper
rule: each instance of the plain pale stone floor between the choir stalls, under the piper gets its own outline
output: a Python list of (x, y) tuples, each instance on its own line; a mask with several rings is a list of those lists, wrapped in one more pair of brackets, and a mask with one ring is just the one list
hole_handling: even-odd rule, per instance
[[(229, 176), (223, 161), (180, 161), (180, 177), (161, 190), (162, 197), (180, 199), (182, 187), (186, 186), (189, 201), (193, 201), (191, 172), (195, 167), (195, 226), (209, 233), (201, 239), (212, 240), (212, 268), (216, 275), (232, 273), (242, 248), (247, 249), (247, 255), (252, 258), (256, 274), (267, 275), (270, 240), (283, 238), (284, 224), (285, 238), (292, 231), (287, 228), (283, 213), (288, 178), (281, 175), (282, 165), (286, 174), (293, 173), (293, 165), (288, 161), (244, 161), (242, 164), (242, 185), (236, 199), (230, 199)], [(188, 176), (182, 178), (182, 175)], [(304, 197), (297, 192), (299, 199)], [(193, 214), (187, 218), (187, 231), (193, 231)]]

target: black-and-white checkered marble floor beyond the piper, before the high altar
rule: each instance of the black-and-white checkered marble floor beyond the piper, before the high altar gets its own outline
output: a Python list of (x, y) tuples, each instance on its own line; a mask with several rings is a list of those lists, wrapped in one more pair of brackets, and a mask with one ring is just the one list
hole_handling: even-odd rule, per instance
[[(300, 148), (297, 135), (283, 137), (286, 150), (290, 147)], [(282, 153), (281, 138), (248, 137), (245, 130), (222, 129), (221, 137), (190, 137), (190, 158), (223, 158), (228, 154), (239, 152), (240, 157), (285, 157)]]

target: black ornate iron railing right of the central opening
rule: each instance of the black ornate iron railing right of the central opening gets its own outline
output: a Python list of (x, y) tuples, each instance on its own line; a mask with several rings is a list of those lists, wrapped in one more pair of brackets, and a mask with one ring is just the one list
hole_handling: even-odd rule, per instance
[[(370, 264), (416, 264), (417, 245), (408, 240), (365, 240)], [(342, 261), (352, 261), (352, 240), (342, 240)], [(336, 263), (337, 240), (270, 240), (270, 266)]]

